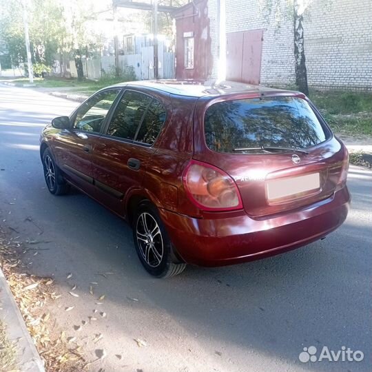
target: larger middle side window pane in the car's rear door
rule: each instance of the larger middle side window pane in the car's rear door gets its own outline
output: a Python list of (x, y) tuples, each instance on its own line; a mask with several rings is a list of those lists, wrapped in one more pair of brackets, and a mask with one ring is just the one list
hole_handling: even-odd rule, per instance
[(133, 140), (151, 101), (146, 94), (127, 90), (116, 107), (107, 134)]

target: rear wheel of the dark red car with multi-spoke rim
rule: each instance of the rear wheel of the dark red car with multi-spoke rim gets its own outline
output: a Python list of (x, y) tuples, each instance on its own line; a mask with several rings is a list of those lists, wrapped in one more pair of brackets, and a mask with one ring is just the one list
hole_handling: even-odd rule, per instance
[(174, 262), (172, 242), (150, 203), (141, 203), (134, 214), (133, 240), (138, 258), (152, 276), (170, 278), (185, 270), (185, 263)]

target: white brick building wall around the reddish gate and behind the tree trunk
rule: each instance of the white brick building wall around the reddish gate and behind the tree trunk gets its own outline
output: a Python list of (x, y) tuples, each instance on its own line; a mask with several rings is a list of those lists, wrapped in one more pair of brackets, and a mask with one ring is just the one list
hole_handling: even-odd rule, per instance
[[(263, 32), (264, 85), (295, 83), (291, 0), (280, 1), (280, 9), (274, 7), (269, 14), (268, 0), (225, 0), (227, 36)], [(208, 1), (211, 77), (217, 76), (219, 2)], [(310, 0), (304, 13), (304, 43), (309, 86), (372, 90), (372, 0)]]

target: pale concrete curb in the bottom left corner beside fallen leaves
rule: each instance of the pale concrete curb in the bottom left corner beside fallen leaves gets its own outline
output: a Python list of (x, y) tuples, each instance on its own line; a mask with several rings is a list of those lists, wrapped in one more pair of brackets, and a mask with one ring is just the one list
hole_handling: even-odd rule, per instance
[(11, 341), (17, 342), (17, 370), (20, 372), (45, 372), (40, 355), (28, 333), (21, 312), (14, 300), (12, 291), (0, 268), (0, 319), (7, 324), (7, 333)]

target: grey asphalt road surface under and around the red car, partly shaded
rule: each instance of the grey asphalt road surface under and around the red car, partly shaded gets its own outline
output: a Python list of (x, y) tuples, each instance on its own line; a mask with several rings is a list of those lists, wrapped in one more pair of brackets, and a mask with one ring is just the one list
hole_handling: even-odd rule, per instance
[[(245, 265), (188, 267), (156, 280), (141, 267), (122, 220), (83, 194), (56, 197), (45, 189), (39, 134), (75, 105), (0, 85), (0, 223), (17, 229), (23, 242), (43, 241), (38, 247), (46, 250), (24, 259), (32, 273), (56, 278), (63, 294), (50, 308), (57, 327), (78, 340), (88, 336), (90, 360), (96, 349), (107, 351), (91, 371), (371, 371), (372, 172), (351, 167), (350, 214), (325, 240)], [(113, 274), (97, 274), (107, 272)], [(90, 282), (98, 282), (94, 297)], [(68, 294), (75, 284), (79, 298)], [(66, 313), (68, 306), (74, 309)], [(74, 331), (94, 309), (107, 316)], [(96, 333), (103, 334), (98, 344)], [(147, 346), (138, 347), (136, 338)], [(364, 360), (300, 362), (310, 346), (350, 347), (363, 351)]]

